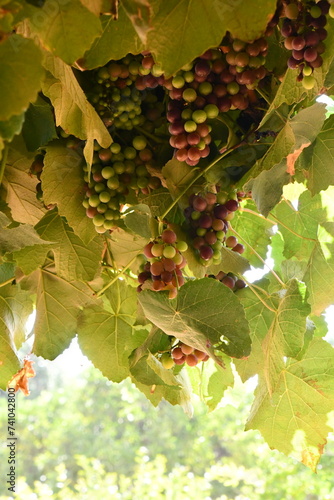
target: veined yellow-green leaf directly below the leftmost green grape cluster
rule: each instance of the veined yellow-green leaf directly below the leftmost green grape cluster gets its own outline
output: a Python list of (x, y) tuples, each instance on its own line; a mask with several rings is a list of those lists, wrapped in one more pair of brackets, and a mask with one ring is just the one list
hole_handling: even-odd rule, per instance
[(57, 274), (67, 281), (93, 280), (100, 270), (103, 240), (98, 235), (86, 246), (74, 234), (57, 210), (49, 211), (37, 224), (36, 231), (53, 241)]

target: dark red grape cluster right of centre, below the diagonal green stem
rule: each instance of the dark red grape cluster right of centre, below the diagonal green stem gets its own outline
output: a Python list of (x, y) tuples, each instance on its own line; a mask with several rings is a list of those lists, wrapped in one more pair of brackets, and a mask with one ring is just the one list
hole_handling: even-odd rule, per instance
[(226, 238), (228, 221), (233, 219), (238, 207), (238, 201), (229, 199), (223, 192), (190, 196), (189, 207), (184, 214), (188, 220), (192, 245), (203, 265), (219, 264), (224, 245), (234, 252), (244, 252), (244, 246), (236, 241), (235, 236)]

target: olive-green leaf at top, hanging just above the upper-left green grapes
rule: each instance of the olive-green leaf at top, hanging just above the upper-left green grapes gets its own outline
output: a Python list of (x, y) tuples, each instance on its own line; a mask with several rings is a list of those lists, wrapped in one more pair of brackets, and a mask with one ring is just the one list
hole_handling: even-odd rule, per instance
[(87, 69), (104, 66), (110, 60), (118, 60), (128, 53), (139, 54), (144, 49), (136, 30), (127, 16), (123, 4), (118, 9), (118, 19), (102, 16), (103, 32), (86, 52), (83, 65)]

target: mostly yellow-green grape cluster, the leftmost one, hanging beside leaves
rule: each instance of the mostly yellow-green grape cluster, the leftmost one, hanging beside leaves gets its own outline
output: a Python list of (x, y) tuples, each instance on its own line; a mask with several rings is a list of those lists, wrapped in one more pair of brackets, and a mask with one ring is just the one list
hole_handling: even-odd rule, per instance
[(84, 167), (87, 184), (82, 204), (96, 231), (104, 233), (117, 226), (130, 190), (147, 194), (149, 189), (159, 188), (161, 182), (147, 170), (153, 154), (145, 137), (134, 137), (132, 146), (125, 148), (114, 142), (108, 149), (96, 149), (90, 177), (88, 167)]

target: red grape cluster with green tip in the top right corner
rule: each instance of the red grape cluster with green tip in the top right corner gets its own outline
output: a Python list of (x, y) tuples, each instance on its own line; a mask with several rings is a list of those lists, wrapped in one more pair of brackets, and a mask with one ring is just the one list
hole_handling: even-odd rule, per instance
[(322, 66), (321, 54), (325, 51), (324, 40), (327, 37), (326, 15), (330, 9), (327, 0), (301, 2), (285, 0), (283, 2), (283, 20), (281, 33), (284, 46), (291, 51), (288, 66), (298, 69), (297, 80), (306, 89), (315, 85), (313, 71)]

